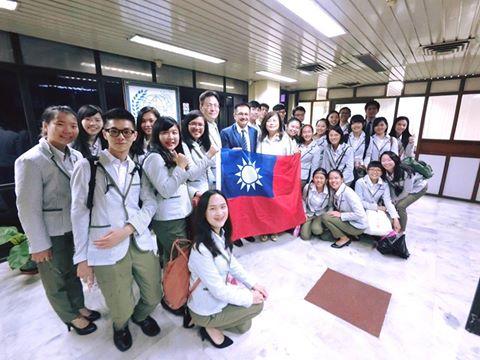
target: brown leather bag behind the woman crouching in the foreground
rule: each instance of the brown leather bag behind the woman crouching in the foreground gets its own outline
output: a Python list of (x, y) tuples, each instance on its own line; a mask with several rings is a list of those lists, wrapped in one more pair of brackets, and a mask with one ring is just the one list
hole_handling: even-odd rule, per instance
[[(191, 293), (200, 284), (200, 278), (198, 278), (190, 288), (188, 258), (191, 248), (192, 241), (188, 239), (175, 240), (170, 251), (170, 260), (163, 270), (163, 299), (174, 310), (184, 306)], [(175, 257), (174, 251), (177, 252)]]

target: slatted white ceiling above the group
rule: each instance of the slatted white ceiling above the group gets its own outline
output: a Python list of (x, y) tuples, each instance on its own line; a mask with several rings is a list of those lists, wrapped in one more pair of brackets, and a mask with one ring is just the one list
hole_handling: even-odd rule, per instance
[[(480, 72), (480, 0), (316, 0), (346, 30), (327, 38), (276, 0), (24, 0), (0, 10), (0, 29), (145, 60), (258, 80), (270, 70), (298, 80), (287, 89), (337, 87)], [(210, 64), (128, 41), (135, 35), (226, 59)], [(421, 46), (466, 38), (464, 52), (427, 56)], [(377, 73), (356, 56), (370, 54)], [(296, 68), (318, 62), (327, 70)]]

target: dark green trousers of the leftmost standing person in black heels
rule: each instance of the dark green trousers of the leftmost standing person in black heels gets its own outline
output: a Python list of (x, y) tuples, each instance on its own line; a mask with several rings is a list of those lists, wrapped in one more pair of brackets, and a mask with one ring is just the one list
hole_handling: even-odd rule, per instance
[(73, 235), (52, 236), (52, 260), (37, 264), (40, 278), (53, 310), (69, 323), (85, 307), (83, 289), (73, 264)]

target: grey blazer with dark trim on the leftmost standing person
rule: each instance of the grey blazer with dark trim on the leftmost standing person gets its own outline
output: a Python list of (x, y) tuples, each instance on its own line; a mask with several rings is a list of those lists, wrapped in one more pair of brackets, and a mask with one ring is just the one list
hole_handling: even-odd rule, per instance
[[(82, 154), (70, 149), (72, 162)], [(30, 253), (52, 247), (51, 236), (72, 231), (70, 172), (42, 138), (15, 161), (18, 218), (28, 237)]]

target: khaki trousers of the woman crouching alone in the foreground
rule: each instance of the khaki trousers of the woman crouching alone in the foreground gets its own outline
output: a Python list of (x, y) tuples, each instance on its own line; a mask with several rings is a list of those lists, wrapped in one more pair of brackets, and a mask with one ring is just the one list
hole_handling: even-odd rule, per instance
[(221, 312), (210, 316), (198, 315), (192, 310), (189, 311), (195, 325), (243, 334), (250, 330), (252, 319), (260, 314), (262, 309), (263, 303), (248, 308), (227, 305)]

